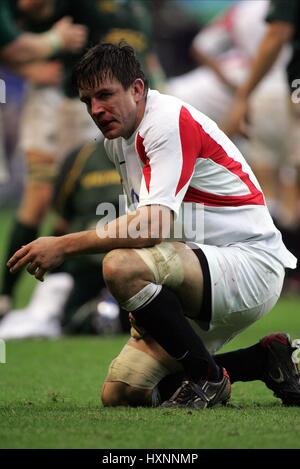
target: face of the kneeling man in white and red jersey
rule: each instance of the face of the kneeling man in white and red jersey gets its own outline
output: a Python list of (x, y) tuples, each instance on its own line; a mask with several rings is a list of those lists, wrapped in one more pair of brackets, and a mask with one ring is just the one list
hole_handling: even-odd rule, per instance
[(80, 89), (81, 101), (104, 137), (129, 138), (144, 112), (144, 83), (137, 79), (125, 90), (115, 78), (106, 78), (95, 88)]

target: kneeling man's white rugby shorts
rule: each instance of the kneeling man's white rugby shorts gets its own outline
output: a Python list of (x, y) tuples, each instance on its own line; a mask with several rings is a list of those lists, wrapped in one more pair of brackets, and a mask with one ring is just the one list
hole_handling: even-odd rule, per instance
[(201, 317), (189, 321), (210, 353), (215, 353), (273, 308), (285, 270), (279, 261), (254, 245), (198, 247), (209, 266), (211, 319), (209, 324)]

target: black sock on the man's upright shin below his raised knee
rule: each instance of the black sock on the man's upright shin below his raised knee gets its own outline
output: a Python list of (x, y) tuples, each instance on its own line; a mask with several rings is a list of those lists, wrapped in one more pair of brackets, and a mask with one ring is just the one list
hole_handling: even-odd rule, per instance
[(142, 326), (169, 355), (178, 360), (194, 381), (209, 378), (218, 381), (220, 370), (202, 340), (185, 318), (177, 296), (163, 287), (153, 301), (132, 311), (137, 325)]

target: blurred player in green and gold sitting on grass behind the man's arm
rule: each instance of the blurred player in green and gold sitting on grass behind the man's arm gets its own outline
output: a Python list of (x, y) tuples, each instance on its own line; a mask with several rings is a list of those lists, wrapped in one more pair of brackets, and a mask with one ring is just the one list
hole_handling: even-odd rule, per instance
[[(105, 201), (116, 207), (120, 177), (107, 158), (103, 142), (72, 151), (58, 172), (53, 208), (61, 233), (95, 228), (96, 209)], [(0, 323), (4, 339), (54, 337), (64, 333), (103, 333), (126, 330), (128, 322), (105, 289), (99, 267), (101, 255), (67, 260), (36, 286), (26, 308), (6, 314)], [(114, 316), (112, 316), (112, 314)], [(109, 316), (110, 315), (110, 316)], [(109, 320), (110, 319), (110, 320)]]

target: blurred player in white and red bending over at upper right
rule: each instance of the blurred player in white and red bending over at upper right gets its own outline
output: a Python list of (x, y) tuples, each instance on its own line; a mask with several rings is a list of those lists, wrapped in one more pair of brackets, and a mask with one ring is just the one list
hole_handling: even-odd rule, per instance
[[(202, 29), (191, 47), (200, 67), (168, 81), (166, 92), (189, 102), (220, 124), (264, 35), (268, 5), (267, 0), (240, 1)], [(253, 96), (251, 135), (247, 140), (236, 141), (251, 162), (271, 209), (280, 196), (277, 173), (287, 151), (288, 90), (284, 67), (288, 55), (285, 48)]]

